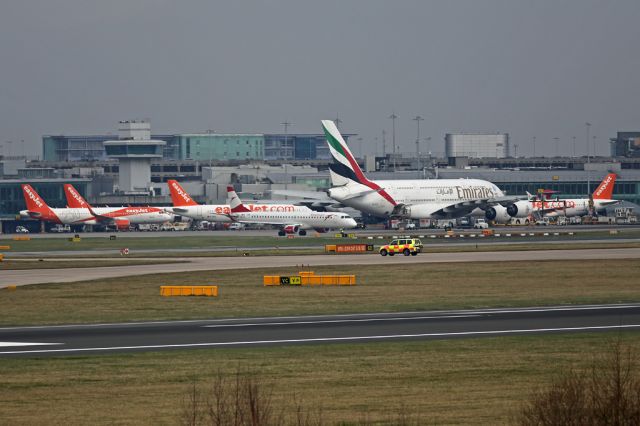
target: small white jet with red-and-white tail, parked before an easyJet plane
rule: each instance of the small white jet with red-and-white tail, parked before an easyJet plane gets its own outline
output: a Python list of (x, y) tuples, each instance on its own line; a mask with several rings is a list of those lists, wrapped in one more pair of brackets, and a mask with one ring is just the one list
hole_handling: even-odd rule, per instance
[(282, 229), (278, 235), (285, 234), (306, 235), (308, 229), (326, 232), (329, 229), (355, 228), (356, 221), (345, 213), (316, 212), (307, 207), (297, 211), (255, 211), (242, 204), (238, 194), (232, 186), (227, 187), (231, 219), (240, 223), (264, 223), (280, 225)]

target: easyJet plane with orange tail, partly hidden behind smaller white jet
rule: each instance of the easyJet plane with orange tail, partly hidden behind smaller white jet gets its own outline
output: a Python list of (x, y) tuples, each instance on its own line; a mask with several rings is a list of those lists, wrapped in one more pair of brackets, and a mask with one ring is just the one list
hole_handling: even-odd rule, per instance
[[(190, 217), (196, 220), (207, 220), (209, 222), (233, 222), (229, 217), (231, 208), (228, 204), (198, 204), (189, 196), (187, 191), (175, 180), (167, 181), (173, 207), (165, 210), (181, 216)], [(254, 212), (293, 212), (309, 211), (305, 206), (295, 206), (293, 204), (247, 204), (247, 208)]]

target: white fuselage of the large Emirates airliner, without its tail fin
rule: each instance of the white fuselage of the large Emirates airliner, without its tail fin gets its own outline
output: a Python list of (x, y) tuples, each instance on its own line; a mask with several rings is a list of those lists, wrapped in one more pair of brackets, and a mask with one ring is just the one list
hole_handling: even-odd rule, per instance
[[(380, 180), (379, 185), (397, 203), (410, 206), (410, 219), (442, 219), (433, 213), (464, 201), (501, 197), (502, 191), (491, 182), (479, 179)], [(393, 204), (366, 185), (350, 182), (333, 187), (329, 196), (344, 205), (376, 216), (389, 216)], [(358, 196), (358, 194), (363, 194)], [(480, 209), (473, 214), (483, 214)], [(467, 213), (468, 214), (468, 213)], [(453, 217), (453, 216), (452, 216)]]

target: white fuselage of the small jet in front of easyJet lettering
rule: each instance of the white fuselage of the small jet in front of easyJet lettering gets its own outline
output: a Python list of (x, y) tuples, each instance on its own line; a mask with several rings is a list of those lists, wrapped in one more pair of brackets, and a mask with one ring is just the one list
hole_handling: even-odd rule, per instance
[(350, 229), (356, 221), (344, 213), (316, 212), (299, 207), (294, 212), (252, 211), (232, 213), (231, 217), (241, 223), (263, 223), (268, 225), (298, 225), (303, 229)]

